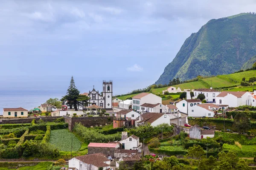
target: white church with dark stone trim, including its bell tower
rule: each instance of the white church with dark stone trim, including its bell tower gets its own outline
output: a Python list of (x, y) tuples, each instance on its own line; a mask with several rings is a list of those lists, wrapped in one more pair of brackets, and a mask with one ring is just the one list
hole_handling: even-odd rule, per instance
[(97, 105), (102, 107), (105, 110), (113, 110), (112, 106), (112, 95), (113, 95), (113, 82), (110, 80), (109, 82), (106, 82), (103, 80), (102, 83), (102, 95), (99, 93), (99, 91), (96, 91), (93, 86), (93, 90), (89, 91), (89, 104), (91, 105)]

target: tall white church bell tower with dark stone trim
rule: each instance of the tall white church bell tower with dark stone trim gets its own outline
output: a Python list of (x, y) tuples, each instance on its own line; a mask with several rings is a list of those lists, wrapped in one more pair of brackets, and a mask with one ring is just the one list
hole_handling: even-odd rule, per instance
[(103, 80), (103, 97), (105, 98), (104, 108), (106, 110), (113, 110), (112, 106), (112, 94), (113, 94), (113, 83), (111, 80), (106, 82)]

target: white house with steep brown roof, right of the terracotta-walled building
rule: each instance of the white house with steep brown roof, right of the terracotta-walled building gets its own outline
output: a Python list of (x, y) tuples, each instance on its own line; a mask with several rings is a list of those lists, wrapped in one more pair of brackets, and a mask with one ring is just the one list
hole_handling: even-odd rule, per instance
[(151, 126), (157, 126), (163, 123), (170, 125), (170, 116), (166, 113), (143, 113), (140, 119), (135, 121), (135, 127), (149, 123)]

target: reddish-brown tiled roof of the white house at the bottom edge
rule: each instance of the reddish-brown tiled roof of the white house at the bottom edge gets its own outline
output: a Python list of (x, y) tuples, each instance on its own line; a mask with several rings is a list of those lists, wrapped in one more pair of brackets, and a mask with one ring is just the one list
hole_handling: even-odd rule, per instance
[(78, 159), (79, 161), (82, 161), (86, 164), (92, 164), (96, 167), (108, 167), (110, 164), (106, 164), (104, 162), (109, 161), (106, 156), (102, 153), (94, 153), (90, 155), (84, 155), (84, 156), (77, 156), (74, 157)]

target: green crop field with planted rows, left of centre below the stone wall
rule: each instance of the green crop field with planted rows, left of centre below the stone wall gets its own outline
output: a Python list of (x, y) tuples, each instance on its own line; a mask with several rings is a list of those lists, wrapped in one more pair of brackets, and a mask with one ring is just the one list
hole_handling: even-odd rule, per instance
[(49, 142), (57, 147), (60, 151), (70, 151), (71, 138), (73, 143), (72, 150), (79, 151), (81, 142), (73, 133), (67, 129), (52, 130)]

